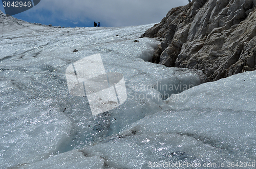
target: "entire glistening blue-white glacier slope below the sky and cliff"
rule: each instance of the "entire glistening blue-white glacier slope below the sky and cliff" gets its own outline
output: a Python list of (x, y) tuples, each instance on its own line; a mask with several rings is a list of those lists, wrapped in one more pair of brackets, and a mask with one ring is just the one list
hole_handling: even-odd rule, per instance
[[(145, 62), (159, 42), (138, 37), (153, 24), (55, 28), (0, 15), (2, 168), (254, 162), (255, 72), (204, 83), (201, 71)], [(123, 74), (127, 100), (92, 116), (65, 71), (96, 53), (106, 72)]]

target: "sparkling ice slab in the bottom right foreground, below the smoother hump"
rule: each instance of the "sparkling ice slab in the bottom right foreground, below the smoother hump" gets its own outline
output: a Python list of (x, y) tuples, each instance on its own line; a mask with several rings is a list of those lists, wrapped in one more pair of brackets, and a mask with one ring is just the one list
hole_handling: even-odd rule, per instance
[(152, 168), (151, 162), (186, 164), (173, 168), (193, 168), (188, 163), (219, 166), (224, 162), (223, 168), (228, 168), (227, 162), (252, 163), (256, 156), (254, 116), (250, 111), (215, 109), (162, 111), (83, 152), (102, 153), (113, 168)]

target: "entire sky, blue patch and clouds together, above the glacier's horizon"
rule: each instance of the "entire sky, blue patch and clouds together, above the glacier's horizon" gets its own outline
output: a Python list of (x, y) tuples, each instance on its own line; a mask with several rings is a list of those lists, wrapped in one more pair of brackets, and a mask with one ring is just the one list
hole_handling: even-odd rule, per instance
[[(186, 4), (188, 0), (41, 0), (13, 16), (65, 27), (93, 26), (94, 21), (101, 26), (130, 26), (160, 22), (170, 9)], [(3, 5), (0, 10), (5, 13)]]

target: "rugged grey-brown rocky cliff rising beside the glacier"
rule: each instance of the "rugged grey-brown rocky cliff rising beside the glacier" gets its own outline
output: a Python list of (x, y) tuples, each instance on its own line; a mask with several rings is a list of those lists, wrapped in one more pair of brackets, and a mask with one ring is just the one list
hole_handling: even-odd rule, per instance
[(200, 69), (210, 80), (256, 69), (256, 0), (193, 0), (142, 37), (160, 38), (153, 63)]

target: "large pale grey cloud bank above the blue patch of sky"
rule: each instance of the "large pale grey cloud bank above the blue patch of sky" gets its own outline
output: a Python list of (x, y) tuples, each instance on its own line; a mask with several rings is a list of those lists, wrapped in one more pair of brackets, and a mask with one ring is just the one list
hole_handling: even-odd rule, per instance
[(128, 26), (160, 22), (170, 9), (186, 4), (187, 0), (44, 0), (40, 8), (61, 12), (63, 19), (86, 22), (89, 18), (106, 26)]

